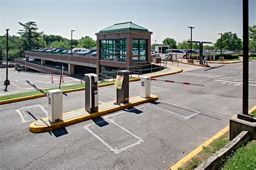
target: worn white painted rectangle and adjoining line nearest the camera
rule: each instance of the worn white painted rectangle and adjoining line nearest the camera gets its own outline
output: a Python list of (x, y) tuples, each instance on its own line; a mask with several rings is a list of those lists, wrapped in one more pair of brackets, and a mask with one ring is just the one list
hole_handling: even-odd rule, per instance
[[(131, 109), (129, 111), (132, 111), (132, 110), (136, 110), (136, 109), (139, 109), (139, 108), (143, 108), (143, 107), (146, 107), (147, 105), (150, 105), (150, 104), (146, 104), (146, 105), (142, 105), (141, 107), (137, 107), (137, 108), (134, 108), (134, 109)], [(95, 123), (92, 123), (92, 124), (89, 124), (89, 125), (86, 125), (84, 126), (84, 129), (89, 131), (93, 136), (95, 136), (99, 141), (101, 141), (105, 146), (109, 147), (110, 151), (118, 154), (118, 153), (121, 153), (121, 152), (124, 152), (124, 151), (127, 151), (127, 150), (130, 150), (131, 148), (133, 148), (134, 146), (136, 145), (140, 145), (141, 143), (143, 143), (143, 139), (136, 136), (136, 134), (133, 134), (132, 132), (130, 132), (129, 130), (125, 129), (123, 126), (120, 126), (118, 125), (116, 122), (114, 122), (113, 118), (116, 118), (118, 116), (120, 116), (121, 114), (123, 114), (124, 112), (127, 112), (127, 111), (121, 111), (121, 112), (118, 112), (117, 114), (113, 114), (113, 115), (108, 115), (108, 116), (104, 116), (103, 118), (105, 119), (106, 122), (109, 122), (109, 123), (112, 123), (116, 126), (118, 126), (120, 129), (124, 130), (126, 133), (129, 133), (131, 136), (133, 136), (134, 138), (138, 139), (138, 141), (136, 143), (133, 143), (129, 146), (125, 146), (123, 148), (114, 148), (112, 147), (111, 145), (107, 144), (102, 138), (106, 139), (105, 137), (102, 136), (102, 134), (98, 133), (96, 130), (93, 130), (92, 131), (92, 126), (95, 125)], [(113, 117), (112, 119), (110, 119), (110, 117)], [(102, 123), (104, 121), (100, 121), (98, 123)], [(91, 127), (91, 128), (89, 128)], [(97, 133), (97, 134), (96, 134)]]

